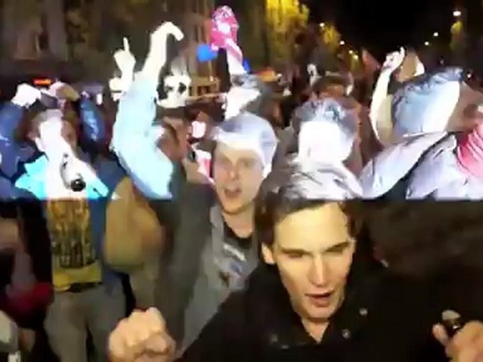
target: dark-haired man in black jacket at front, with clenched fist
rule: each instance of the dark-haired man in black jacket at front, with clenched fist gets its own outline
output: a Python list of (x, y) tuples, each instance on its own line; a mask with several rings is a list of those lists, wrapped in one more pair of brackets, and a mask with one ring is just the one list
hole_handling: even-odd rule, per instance
[[(264, 263), (179, 360), (445, 361), (444, 347), (454, 361), (482, 360), (483, 324), (450, 338), (431, 288), (390, 275), (360, 240), (356, 248), (357, 205), (326, 201), (328, 180), (313, 164), (266, 180), (255, 219)], [(149, 310), (119, 324), (110, 351), (115, 362), (171, 361), (174, 343)]]

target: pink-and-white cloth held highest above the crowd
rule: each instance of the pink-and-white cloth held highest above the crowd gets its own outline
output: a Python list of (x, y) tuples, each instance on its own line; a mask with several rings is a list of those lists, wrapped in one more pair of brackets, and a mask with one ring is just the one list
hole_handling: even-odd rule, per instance
[[(229, 31), (223, 31), (229, 27)], [(211, 32), (210, 45), (213, 51), (220, 48), (226, 49), (226, 52), (237, 59), (240, 64), (243, 62), (243, 53), (237, 45), (238, 21), (236, 20), (233, 10), (227, 6), (217, 8), (211, 16)]]

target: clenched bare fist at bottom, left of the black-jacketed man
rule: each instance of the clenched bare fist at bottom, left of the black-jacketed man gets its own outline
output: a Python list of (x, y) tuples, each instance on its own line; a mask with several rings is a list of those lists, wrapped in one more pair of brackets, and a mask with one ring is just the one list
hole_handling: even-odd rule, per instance
[(135, 311), (123, 319), (109, 336), (112, 362), (171, 362), (175, 342), (166, 331), (166, 323), (157, 309)]

